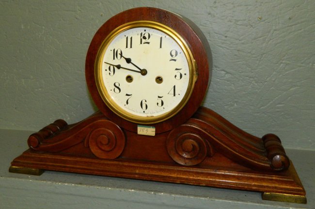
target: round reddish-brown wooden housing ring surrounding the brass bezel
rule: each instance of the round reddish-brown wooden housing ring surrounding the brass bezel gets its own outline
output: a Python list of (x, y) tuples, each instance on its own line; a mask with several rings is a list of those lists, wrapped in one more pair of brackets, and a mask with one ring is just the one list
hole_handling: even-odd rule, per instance
[(120, 25), (139, 20), (155, 21), (164, 24), (176, 31), (187, 43), (195, 60), (195, 64), (197, 65), (198, 79), (186, 106), (183, 107), (182, 110), (172, 118), (150, 125), (156, 128), (156, 133), (161, 133), (178, 127), (179, 125), (186, 122), (201, 105), (210, 82), (209, 78), (211, 78), (211, 49), (204, 34), (192, 21), (190, 21), (188, 18), (179, 16), (166, 10), (151, 7), (134, 8), (119, 13), (106, 21), (98, 29), (91, 41), (86, 56), (85, 76), (89, 92), (94, 100), (95, 105), (112, 122), (124, 129), (137, 132), (138, 124), (119, 117), (117, 114), (113, 113), (109, 107), (106, 106), (97, 90), (94, 77), (94, 64), (99, 48), (111, 31)]

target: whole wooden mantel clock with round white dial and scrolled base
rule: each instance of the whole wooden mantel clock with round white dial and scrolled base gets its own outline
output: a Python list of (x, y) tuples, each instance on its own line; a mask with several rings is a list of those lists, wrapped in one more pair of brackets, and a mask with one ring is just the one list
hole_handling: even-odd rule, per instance
[(306, 203), (279, 137), (238, 129), (201, 106), (212, 70), (204, 34), (189, 19), (149, 7), (111, 17), (86, 56), (99, 111), (31, 134), (10, 172), (44, 170), (258, 191)]

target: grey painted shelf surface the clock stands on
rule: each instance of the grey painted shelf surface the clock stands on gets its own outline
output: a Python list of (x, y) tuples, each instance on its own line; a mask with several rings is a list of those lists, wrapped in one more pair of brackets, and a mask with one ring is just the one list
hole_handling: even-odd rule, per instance
[(307, 204), (262, 200), (261, 193), (126, 178), (45, 171), (9, 173), (33, 131), (0, 129), (1, 209), (315, 209), (315, 151), (286, 149), (306, 190)]

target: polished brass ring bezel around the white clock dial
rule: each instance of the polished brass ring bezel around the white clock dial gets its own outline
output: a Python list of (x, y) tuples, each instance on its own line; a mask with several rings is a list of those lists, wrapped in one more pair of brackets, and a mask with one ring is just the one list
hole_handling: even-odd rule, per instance
[[(157, 116), (150, 116), (150, 117), (139, 116), (139, 115), (129, 113), (123, 108), (121, 108), (118, 104), (116, 104), (111, 98), (111, 96), (109, 95), (104, 85), (103, 76), (102, 76), (102, 60), (110, 42), (121, 32), (124, 32), (132, 28), (141, 28), (141, 27), (152, 28), (152, 29), (164, 32), (170, 37), (172, 37), (173, 40), (180, 46), (180, 48), (185, 53), (185, 57), (189, 65), (189, 84), (188, 84), (188, 88), (183, 99), (171, 111), (157, 115)], [(94, 64), (94, 75), (95, 75), (95, 82), (96, 82), (98, 93), (101, 96), (102, 100), (105, 102), (105, 104), (110, 108), (110, 110), (114, 112), (115, 114), (117, 114), (118, 116), (137, 124), (155, 124), (155, 123), (163, 122), (173, 117), (175, 114), (177, 114), (188, 102), (192, 94), (192, 91), (194, 89), (194, 84), (198, 78), (197, 66), (195, 64), (192, 53), (187, 43), (185, 42), (185, 40), (170, 27), (163, 25), (161, 23), (149, 21), (149, 20), (139, 20), (139, 21), (128, 22), (126, 24), (123, 24), (117, 27), (112, 32), (110, 32), (110, 34), (102, 42), (96, 54), (96, 59), (95, 59), (95, 64)]]

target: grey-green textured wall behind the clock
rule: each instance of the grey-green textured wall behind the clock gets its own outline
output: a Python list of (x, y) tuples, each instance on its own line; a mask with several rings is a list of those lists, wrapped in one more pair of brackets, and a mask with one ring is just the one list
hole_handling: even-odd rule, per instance
[(0, 128), (94, 113), (89, 43), (110, 16), (139, 6), (187, 16), (205, 33), (214, 68), (204, 106), (254, 135), (315, 149), (313, 0), (1, 0)]

